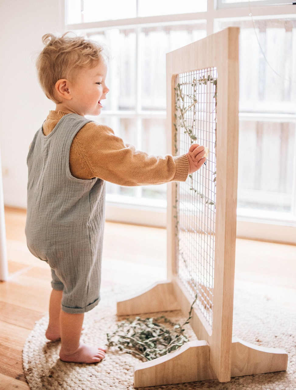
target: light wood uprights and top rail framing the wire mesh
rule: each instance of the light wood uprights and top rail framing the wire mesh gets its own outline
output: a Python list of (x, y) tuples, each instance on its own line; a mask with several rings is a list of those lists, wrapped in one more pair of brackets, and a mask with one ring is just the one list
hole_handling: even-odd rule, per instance
[[(239, 34), (239, 27), (228, 27), (166, 55), (167, 139), (169, 152), (173, 155), (175, 155), (176, 76), (197, 69), (217, 68), (219, 98), (217, 99), (217, 147), (215, 149), (218, 178), (215, 210), (215, 283), (213, 332), (207, 341), (211, 351), (210, 364), (220, 382), (230, 381), (231, 378), (230, 345), (233, 324), (238, 175)], [(207, 72), (204, 73), (207, 78)], [(176, 183), (167, 184), (167, 280), (173, 280), (173, 275), (176, 274), (175, 209), (173, 208), (176, 191), (178, 191)], [(179, 202), (177, 208), (178, 205)]]

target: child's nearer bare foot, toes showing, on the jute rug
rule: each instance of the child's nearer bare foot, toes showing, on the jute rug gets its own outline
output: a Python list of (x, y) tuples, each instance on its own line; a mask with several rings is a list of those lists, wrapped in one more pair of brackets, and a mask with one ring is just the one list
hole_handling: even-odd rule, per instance
[(66, 353), (62, 348), (60, 349), (60, 360), (63, 360), (63, 362), (97, 363), (104, 359), (106, 352), (104, 348), (92, 347), (81, 341), (74, 353)]

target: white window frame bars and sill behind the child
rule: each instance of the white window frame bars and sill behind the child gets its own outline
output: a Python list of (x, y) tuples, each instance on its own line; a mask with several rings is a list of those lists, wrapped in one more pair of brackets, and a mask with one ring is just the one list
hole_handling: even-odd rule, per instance
[[(136, 28), (137, 36), (139, 27), (148, 27), (152, 25), (171, 25), (178, 23), (196, 23), (197, 20), (206, 20), (206, 31), (207, 35), (213, 34), (214, 32), (214, 21), (222, 18), (245, 18), (250, 14), (250, 7), (252, 17), (273, 17), (281, 16), (282, 18), (288, 18), (295, 16), (296, 5), (270, 5), (271, 3), (284, 2), (284, 0), (263, 0), (261, 2), (244, 2), (244, 3), (231, 3), (222, 4), (222, 0), (208, 0), (206, 12), (194, 12), (186, 14), (173, 14), (173, 15), (161, 15), (161, 16), (146, 16), (136, 17), (130, 19), (121, 20), (104, 20), (98, 22), (88, 23), (76, 23), (66, 24), (67, 16), (67, 1), (60, 1), (60, 27), (61, 31), (81, 31), (92, 32), (98, 30), (106, 30), (115, 27), (133, 27)], [(287, 1), (285, 1), (287, 3)], [(269, 4), (269, 5), (266, 5)], [(139, 40), (137, 39), (137, 77), (139, 76)], [(137, 95), (139, 96), (139, 83), (137, 88)], [(147, 112), (141, 111), (141, 102), (136, 99), (137, 106), (134, 111), (104, 111), (101, 115), (113, 117), (133, 117), (136, 119), (137, 125), (137, 140), (141, 140), (141, 119), (143, 117), (155, 117), (165, 118), (166, 112)], [(259, 118), (259, 114), (243, 113), (239, 114), (240, 118), (249, 119), (250, 115)], [(258, 116), (259, 115), (259, 116)], [(286, 119), (296, 124), (295, 115), (284, 115)], [(262, 115), (262, 118), (266, 119), (266, 114)], [(282, 114), (271, 114), (270, 120), (276, 119), (283, 120)], [(296, 140), (296, 137), (295, 137)], [(138, 147), (138, 142), (137, 145)], [(296, 141), (295, 141), (296, 150)], [(293, 162), (296, 167), (296, 161)], [(296, 194), (296, 169), (294, 172), (294, 194)], [(140, 188), (136, 186), (137, 199), (134, 197), (125, 197), (122, 195), (106, 194), (106, 220), (134, 223), (147, 226), (155, 227), (166, 227), (166, 201), (155, 200), (155, 199), (141, 199)], [(294, 204), (292, 206), (292, 213), (296, 214), (296, 196), (294, 197)], [(296, 218), (296, 217), (295, 217)], [(292, 227), (292, 229), (291, 229)], [(289, 217), (285, 214), (279, 215), (278, 213), (268, 212), (268, 215), (258, 212), (249, 213), (246, 215), (246, 209), (238, 209), (237, 213), (237, 236), (240, 238), (251, 238), (251, 239), (262, 239), (264, 241), (273, 241), (281, 243), (296, 244), (296, 219), (289, 220)]]

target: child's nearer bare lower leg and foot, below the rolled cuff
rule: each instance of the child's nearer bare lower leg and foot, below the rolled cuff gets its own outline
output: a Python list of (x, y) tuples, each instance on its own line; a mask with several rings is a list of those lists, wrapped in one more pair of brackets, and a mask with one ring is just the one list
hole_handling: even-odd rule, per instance
[(84, 313), (72, 314), (60, 311), (61, 342), (60, 360), (76, 363), (96, 363), (105, 356), (106, 349), (92, 347), (79, 341)]

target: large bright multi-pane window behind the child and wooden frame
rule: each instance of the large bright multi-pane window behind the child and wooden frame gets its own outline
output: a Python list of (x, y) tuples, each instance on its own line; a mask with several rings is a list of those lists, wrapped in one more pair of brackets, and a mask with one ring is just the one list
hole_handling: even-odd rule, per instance
[[(65, 28), (105, 44), (113, 58), (108, 99), (95, 121), (136, 149), (165, 156), (166, 53), (239, 26), (238, 216), (296, 224), (296, 6), (282, 0), (154, 3), (67, 2)], [(107, 183), (108, 196), (165, 211), (166, 184)]]

